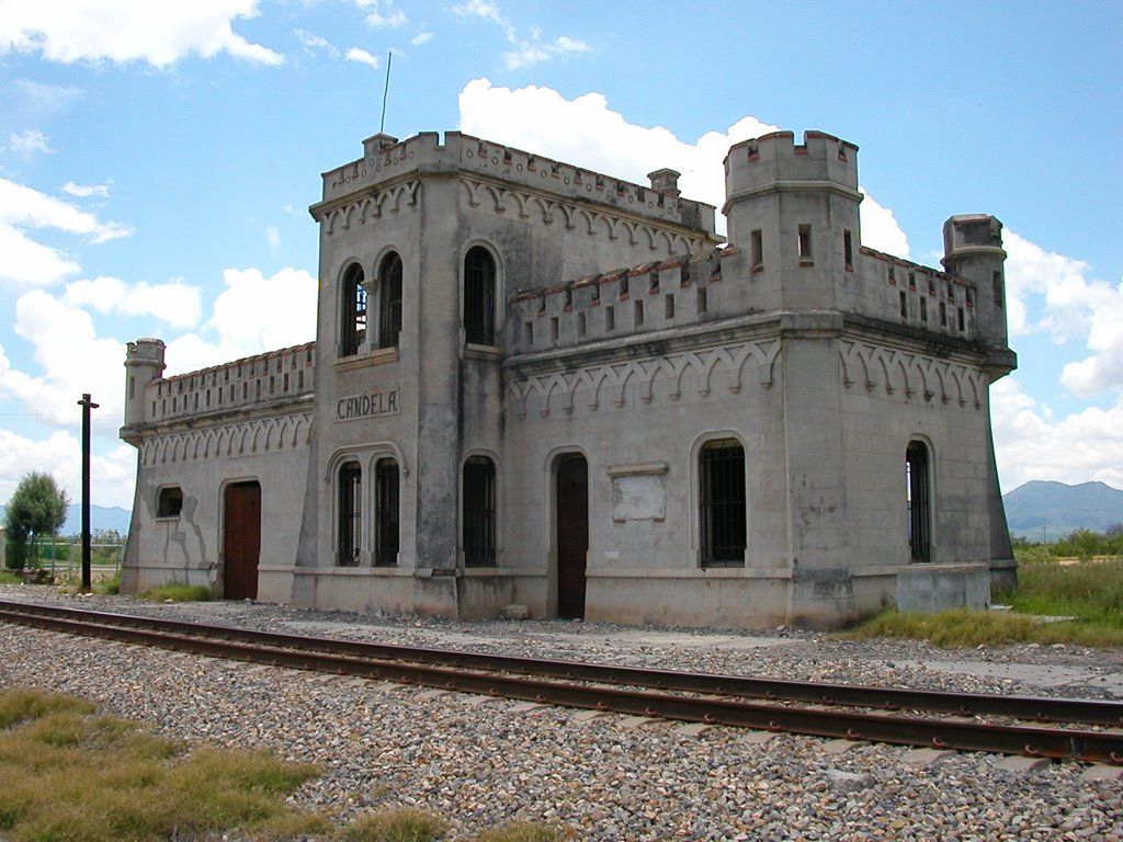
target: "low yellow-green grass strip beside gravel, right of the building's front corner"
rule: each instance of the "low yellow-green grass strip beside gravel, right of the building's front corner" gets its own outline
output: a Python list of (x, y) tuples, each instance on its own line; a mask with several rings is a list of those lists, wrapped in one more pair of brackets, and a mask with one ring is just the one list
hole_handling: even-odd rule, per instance
[(1123, 630), (1095, 622), (1039, 623), (1022, 614), (957, 608), (932, 614), (885, 611), (843, 637), (928, 640), (944, 649), (1008, 643), (1123, 647)]

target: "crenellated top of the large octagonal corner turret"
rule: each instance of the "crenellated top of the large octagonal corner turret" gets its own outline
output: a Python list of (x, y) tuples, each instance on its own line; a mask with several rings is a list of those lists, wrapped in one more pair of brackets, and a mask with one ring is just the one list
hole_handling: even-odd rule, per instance
[(725, 156), (725, 212), (731, 202), (773, 190), (832, 182), (857, 194), (858, 147), (824, 131), (774, 131), (730, 147)]

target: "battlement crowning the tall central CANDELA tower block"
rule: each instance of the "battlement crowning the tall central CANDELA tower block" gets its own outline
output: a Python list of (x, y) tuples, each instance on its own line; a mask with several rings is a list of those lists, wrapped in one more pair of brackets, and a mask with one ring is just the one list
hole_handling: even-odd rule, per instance
[(364, 141), (363, 149), (358, 161), (322, 174), (323, 200), (310, 209), (313, 217), (319, 218), (321, 205), (409, 173), (458, 170), (573, 202), (610, 205), (711, 236), (715, 231), (714, 207), (681, 198), (667, 175), (673, 171), (657, 170), (650, 176), (651, 184), (645, 186), (459, 131), (445, 132), (444, 144), (436, 131), (422, 131), (405, 140), (374, 135)]

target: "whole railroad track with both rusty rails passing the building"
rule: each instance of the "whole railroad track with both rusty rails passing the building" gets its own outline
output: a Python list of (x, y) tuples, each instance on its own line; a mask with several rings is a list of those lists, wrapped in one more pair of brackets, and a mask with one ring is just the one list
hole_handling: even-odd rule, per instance
[[(1119, 730), (1123, 702), (681, 672), (302, 637), (21, 602), (0, 601), (0, 621), (194, 655), (569, 707), (1123, 766), (1123, 731)], [(1026, 720), (1035, 724), (1024, 724)]]

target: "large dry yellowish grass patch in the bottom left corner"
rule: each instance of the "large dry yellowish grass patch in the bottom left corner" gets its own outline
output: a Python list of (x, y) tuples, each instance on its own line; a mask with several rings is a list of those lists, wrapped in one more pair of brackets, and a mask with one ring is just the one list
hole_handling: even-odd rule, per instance
[(82, 699), (0, 693), (0, 833), (9, 842), (145, 842), (239, 830), (325, 833), (285, 797), (317, 774), (263, 752), (184, 747)]

